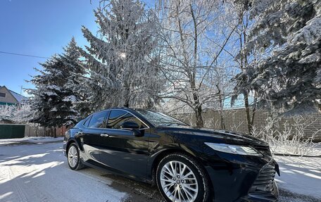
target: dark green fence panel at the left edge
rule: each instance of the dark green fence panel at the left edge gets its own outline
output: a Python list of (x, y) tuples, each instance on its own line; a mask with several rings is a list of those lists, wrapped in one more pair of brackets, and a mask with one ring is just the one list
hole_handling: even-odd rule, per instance
[(0, 125), (0, 139), (25, 137), (25, 125)]

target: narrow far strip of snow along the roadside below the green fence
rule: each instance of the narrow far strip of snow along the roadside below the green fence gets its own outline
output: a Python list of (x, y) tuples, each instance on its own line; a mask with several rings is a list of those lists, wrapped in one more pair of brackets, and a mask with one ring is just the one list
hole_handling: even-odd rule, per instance
[(44, 144), (56, 141), (63, 141), (63, 137), (24, 137), (14, 139), (0, 139), (0, 146), (8, 146), (13, 144)]

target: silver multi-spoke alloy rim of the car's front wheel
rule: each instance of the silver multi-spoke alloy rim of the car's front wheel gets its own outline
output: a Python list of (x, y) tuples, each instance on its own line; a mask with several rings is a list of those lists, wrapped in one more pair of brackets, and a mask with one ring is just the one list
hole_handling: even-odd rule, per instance
[(194, 201), (199, 192), (199, 184), (194, 172), (184, 163), (172, 160), (160, 171), (161, 187), (173, 202)]

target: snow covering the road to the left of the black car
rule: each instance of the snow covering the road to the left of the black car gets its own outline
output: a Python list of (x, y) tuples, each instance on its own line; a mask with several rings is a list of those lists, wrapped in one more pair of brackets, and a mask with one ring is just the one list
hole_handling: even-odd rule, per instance
[(62, 144), (0, 146), (0, 201), (122, 201), (110, 179), (68, 168)]

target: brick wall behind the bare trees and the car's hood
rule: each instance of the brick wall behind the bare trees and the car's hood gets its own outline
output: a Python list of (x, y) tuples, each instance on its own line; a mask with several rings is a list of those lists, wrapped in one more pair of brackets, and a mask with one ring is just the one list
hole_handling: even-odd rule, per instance
[[(195, 125), (196, 120), (194, 113), (180, 113), (173, 115), (176, 118), (187, 122), (190, 125)], [(225, 130), (232, 130), (234, 132), (248, 133), (248, 127), (246, 122), (246, 113), (244, 108), (239, 109), (229, 109), (222, 112), (223, 120), (225, 123)], [(254, 117), (254, 126), (258, 129), (266, 125), (268, 118), (267, 111), (256, 111)], [(221, 116), (219, 111), (207, 110), (203, 112), (204, 127), (213, 129), (222, 129), (220, 125)], [(295, 124), (295, 118), (281, 118), (277, 121), (277, 130), (284, 130), (284, 124), (287, 122), (289, 125)], [(306, 137), (310, 137), (313, 133), (317, 132), (315, 135), (315, 141), (321, 141), (321, 115), (313, 114), (304, 117), (304, 125), (308, 125), (304, 132)]]

